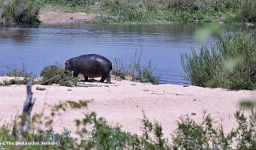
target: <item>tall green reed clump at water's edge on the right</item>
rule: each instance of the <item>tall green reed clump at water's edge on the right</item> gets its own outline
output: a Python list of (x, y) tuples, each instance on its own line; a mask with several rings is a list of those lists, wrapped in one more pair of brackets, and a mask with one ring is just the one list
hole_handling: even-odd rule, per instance
[(218, 37), (212, 46), (181, 55), (184, 77), (194, 86), (227, 89), (254, 89), (256, 68), (255, 33)]

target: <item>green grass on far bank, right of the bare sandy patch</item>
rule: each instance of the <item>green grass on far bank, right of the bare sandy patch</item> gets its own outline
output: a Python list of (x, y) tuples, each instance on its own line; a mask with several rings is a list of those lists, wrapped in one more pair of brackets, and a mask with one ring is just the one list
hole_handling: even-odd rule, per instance
[[(151, 23), (161, 21), (255, 23), (255, 0), (169, 0), (102, 1), (102, 9), (117, 16), (117, 23)], [(223, 18), (221, 18), (223, 17)], [(113, 20), (113, 18), (111, 18)], [(105, 23), (108, 23), (105, 21)]]

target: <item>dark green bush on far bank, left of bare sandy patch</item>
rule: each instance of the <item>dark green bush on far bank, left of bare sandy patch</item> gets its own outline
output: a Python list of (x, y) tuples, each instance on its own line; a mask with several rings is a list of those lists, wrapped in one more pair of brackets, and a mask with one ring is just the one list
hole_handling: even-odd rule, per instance
[(39, 7), (32, 0), (0, 0), (0, 23), (37, 24)]

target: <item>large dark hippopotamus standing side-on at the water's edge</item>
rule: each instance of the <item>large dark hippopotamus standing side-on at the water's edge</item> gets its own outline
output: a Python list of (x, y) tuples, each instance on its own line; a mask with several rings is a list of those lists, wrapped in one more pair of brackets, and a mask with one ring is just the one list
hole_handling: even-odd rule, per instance
[(73, 71), (74, 77), (78, 77), (78, 74), (83, 74), (84, 81), (88, 81), (88, 77), (102, 77), (101, 83), (105, 79), (107, 83), (111, 83), (110, 71), (112, 70), (112, 63), (102, 55), (87, 54), (70, 58), (65, 63), (65, 70), (66, 72)]

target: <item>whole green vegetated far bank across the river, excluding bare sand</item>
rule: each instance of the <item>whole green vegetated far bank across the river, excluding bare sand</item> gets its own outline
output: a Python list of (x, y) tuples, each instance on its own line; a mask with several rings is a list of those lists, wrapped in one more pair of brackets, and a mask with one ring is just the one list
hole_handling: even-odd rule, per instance
[(256, 22), (256, 0), (1, 0), (0, 7), (2, 22), (29, 24), (39, 9), (102, 14), (93, 23)]

